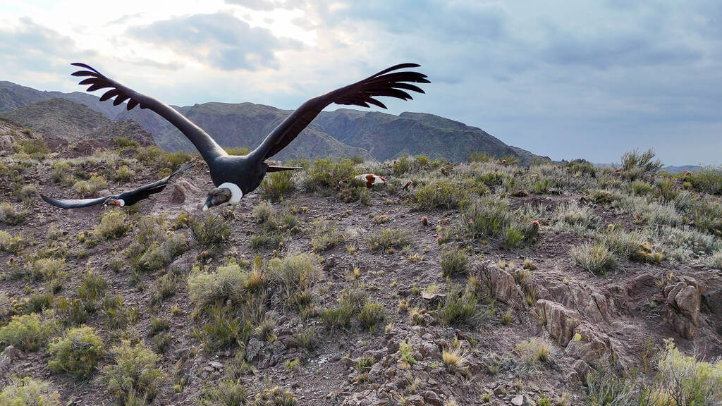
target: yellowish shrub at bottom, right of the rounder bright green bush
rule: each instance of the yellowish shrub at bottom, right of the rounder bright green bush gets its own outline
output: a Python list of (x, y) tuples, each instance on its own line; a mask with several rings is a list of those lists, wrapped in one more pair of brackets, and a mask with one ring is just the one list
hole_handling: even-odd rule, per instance
[(101, 376), (108, 392), (123, 405), (152, 401), (167, 379), (166, 373), (156, 366), (160, 355), (126, 340), (111, 348), (110, 354), (113, 363), (103, 367)]

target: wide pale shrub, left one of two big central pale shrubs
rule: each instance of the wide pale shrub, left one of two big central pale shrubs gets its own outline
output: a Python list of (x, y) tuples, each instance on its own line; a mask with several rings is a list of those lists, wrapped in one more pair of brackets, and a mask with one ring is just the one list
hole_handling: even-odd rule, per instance
[(188, 297), (196, 308), (229, 300), (241, 303), (246, 296), (247, 280), (248, 272), (236, 263), (219, 267), (216, 272), (202, 272), (194, 268), (188, 275)]

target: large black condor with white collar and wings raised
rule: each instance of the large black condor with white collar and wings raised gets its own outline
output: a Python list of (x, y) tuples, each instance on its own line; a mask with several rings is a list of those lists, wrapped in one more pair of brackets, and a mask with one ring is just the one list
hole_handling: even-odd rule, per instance
[(103, 76), (86, 64), (75, 63), (73, 65), (84, 69), (74, 72), (73, 76), (87, 77), (79, 84), (90, 85), (87, 88), (88, 92), (110, 87), (110, 90), (100, 96), (100, 101), (115, 98), (113, 105), (119, 105), (127, 100), (126, 108), (128, 110), (132, 110), (136, 105), (139, 105), (140, 108), (149, 108), (188, 137), (208, 164), (211, 179), (216, 186), (206, 195), (203, 210), (221, 204), (240, 202), (243, 196), (251, 193), (261, 184), (268, 172), (300, 169), (269, 165), (265, 161), (292, 142), (326, 106), (336, 103), (361, 107), (376, 105), (386, 108), (386, 105), (376, 100), (375, 97), (388, 96), (401, 100), (413, 100), (405, 90), (423, 93), (424, 91), (420, 87), (412, 85), (412, 83), (430, 83), (425, 74), (399, 71), (399, 69), (420, 66), (418, 64), (391, 66), (352, 85), (340, 87), (306, 101), (271, 131), (264, 141), (248, 155), (228, 155), (205, 131), (169, 105), (121, 85), (120, 82)]

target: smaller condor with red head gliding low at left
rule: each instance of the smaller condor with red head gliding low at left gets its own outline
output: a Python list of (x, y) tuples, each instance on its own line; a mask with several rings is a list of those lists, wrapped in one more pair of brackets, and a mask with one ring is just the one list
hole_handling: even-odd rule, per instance
[(140, 186), (138, 189), (124, 191), (121, 194), (113, 194), (105, 197), (97, 197), (95, 199), (55, 199), (53, 197), (45, 196), (40, 194), (40, 197), (56, 207), (63, 209), (77, 209), (78, 207), (89, 207), (95, 206), (95, 204), (105, 204), (110, 206), (126, 207), (132, 206), (143, 199), (147, 199), (151, 194), (160, 193), (165, 186), (168, 186), (168, 181), (174, 176), (178, 176), (186, 170), (193, 167), (193, 163), (185, 163), (179, 166), (176, 170), (173, 170), (170, 175), (162, 178), (160, 181), (148, 183), (147, 185)]

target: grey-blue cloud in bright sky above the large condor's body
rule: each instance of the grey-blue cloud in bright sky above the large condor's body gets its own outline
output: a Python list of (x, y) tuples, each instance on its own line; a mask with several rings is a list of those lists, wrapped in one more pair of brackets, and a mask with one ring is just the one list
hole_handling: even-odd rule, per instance
[(175, 53), (225, 71), (276, 69), (277, 51), (298, 49), (297, 40), (278, 38), (265, 28), (219, 12), (194, 14), (130, 27), (137, 40), (168, 47)]

